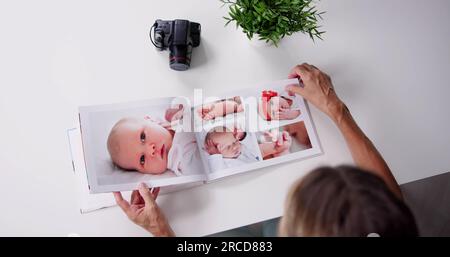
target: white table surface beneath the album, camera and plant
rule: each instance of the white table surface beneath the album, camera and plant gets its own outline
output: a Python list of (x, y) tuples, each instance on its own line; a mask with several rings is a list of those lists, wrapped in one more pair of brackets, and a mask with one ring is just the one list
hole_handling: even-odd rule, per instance
[[(315, 64), (373, 140), (400, 183), (450, 170), (450, 1), (323, 0), (324, 41), (298, 34), (279, 48), (224, 27), (215, 0), (0, 3), (0, 235), (143, 236), (118, 208), (81, 215), (66, 129), (79, 105), (214, 95), (283, 79)], [(202, 24), (186, 72), (169, 69), (148, 30), (156, 18)], [(325, 154), (163, 196), (179, 235), (206, 235), (282, 214), (294, 180), (318, 165), (351, 163), (315, 108)]]

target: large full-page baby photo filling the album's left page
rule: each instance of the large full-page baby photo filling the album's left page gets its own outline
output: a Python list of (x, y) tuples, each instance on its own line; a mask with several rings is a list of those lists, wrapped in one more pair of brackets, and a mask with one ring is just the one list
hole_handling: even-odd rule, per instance
[(180, 129), (190, 107), (172, 98), (97, 107), (81, 117), (88, 178), (101, 188), (204, 176), (194, 132)]

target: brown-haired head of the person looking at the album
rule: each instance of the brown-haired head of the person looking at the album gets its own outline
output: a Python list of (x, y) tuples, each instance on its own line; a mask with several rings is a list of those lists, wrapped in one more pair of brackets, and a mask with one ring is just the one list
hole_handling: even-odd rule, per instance
[(321, 167), (291, 188), (281, 236), (417, 236), (409, 208), (381, 178), (350, 166)]

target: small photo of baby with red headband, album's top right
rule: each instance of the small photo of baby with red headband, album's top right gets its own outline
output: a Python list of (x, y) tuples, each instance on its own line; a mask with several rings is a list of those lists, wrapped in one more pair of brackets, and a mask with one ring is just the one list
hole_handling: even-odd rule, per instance
[(285, 90), (263, 90), (258, 113), (266, 121), (293, 120), (300, 115), (298, 96)]

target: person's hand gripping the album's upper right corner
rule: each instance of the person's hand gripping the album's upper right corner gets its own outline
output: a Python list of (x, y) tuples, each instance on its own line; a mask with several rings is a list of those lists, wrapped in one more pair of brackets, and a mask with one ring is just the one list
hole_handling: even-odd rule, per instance
[(301, 95), (328, 116), (334, 118), (336, 112), (343, 107), (342, 101), (334, 91), (330, 77), (315, 66), (307, 63), (297, 65), (288, 77), (298, 78), (303, 83), (303, 87), (288, 85), (286, 87), (288, 93)]

